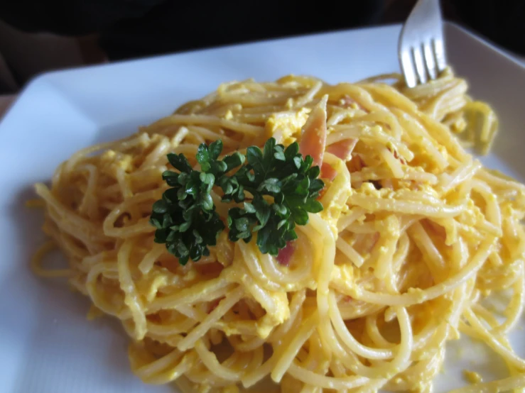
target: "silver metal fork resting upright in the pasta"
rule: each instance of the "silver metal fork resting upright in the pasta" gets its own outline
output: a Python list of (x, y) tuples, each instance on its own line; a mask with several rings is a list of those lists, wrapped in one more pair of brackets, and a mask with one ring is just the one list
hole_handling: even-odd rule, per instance
[(439, 0), (419, 0), (399, 35), (399, 62), (406, 85), (436, 79), (445, 70), (445, 43)]

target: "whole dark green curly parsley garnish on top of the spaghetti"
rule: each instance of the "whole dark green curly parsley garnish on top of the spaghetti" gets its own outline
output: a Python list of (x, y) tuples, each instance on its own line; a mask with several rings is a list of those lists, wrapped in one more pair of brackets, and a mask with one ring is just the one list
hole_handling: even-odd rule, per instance
[(323, 210), (317, 200), (325, 185), (318, 179), (320, 169), (312, 166), (309, 155), (303, 158), (298, 143), (285, 148), (270, 138), (264, 150), (251, 146), (246, 157), (237, 152), (219, 160), (221, 152), (221, 140), (202, 143), (196, 156), (201, 172), (193, 170), (184, 155), (168, 155), (179, 172), (163, 173), (172, 188), (153, 204), (150, 221), (157, 228), (155, 241), (166, 243), (182, 265), (188, 258), (197, 261), (209, 255), (207, 246), (215, 245), (224, 230), (210, 195), (214, 185), (222, 189), (222, 201), (244, 202), (242, 208), (229, 209), (229, 240), (248, 243), (257, 233), (261, 253), (277, 255), (297, 238), (296, 224), (305, 225), (308, 213)]

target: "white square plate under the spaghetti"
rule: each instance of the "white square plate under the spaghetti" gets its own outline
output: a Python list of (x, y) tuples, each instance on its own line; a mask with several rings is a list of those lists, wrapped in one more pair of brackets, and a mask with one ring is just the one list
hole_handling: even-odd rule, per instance
[[(31, 275), (28, 261), (44, 240), (40, 212), (24, 208), (34, 182), (50, 179), (76, 150), (128, 135), (221, 82), (295, 73), (335, 83), (396, 71), (399, 30), (386, 26), (273, 40), (34, 79), (0, 123), (0, 391), (173, 392), (132, 375), (127, 338), (117, 321), (86, 321), (87, 299), (63, 282)], [(524, 67), (457, 26), (448, 24), (446, 31), (450, 63), (468, 79), (471, 93), (499, 114), (501, 133), (485, 163), (524, 180)], [(465, 384), (463, 368), (502, 371), (502, 362), (494, 363), (482, 345), (460, 344), (449, 345), (435, 392)], [(519, 329), (514, 348), (525, 355)]]

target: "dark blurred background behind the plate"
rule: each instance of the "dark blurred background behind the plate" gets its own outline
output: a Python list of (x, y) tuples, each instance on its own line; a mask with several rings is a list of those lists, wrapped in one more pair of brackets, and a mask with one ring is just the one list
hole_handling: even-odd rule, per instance
[[(415, 3), (415, 0), (316, 1), (312, 4), (290, 0), (0, 0), (0, 20), (9, 29), (23, 33), (73, 37), (80, 46), (82, 64), (93, 64), (399, 23), (406, 19)], [(446, 19), (470, 28), (509, 52), (525, 55), (525, 0), (442, 0), (441, 3)], [(0, 30), (0, 55), (1, 35)], [(32, 73), (42, 71), (27, 65), (31, 56), (36, 59), (40, 52), (20, 49), (21, 46), (11, 44), (10, 50), (4, 50), (7, 52), (4, 62), (18, 87)], [(9, 49), (9, 43), (7, 47)], [(10, 60), (13, 52), (25, 60)], [(53, 52), (53, 48), (48, 52)], [(45, 50), (43, 55), (45, 57)], [(43, 70), (69, 64), (48, 63)], [(4, 86), (4, 92), (6, 89)]]

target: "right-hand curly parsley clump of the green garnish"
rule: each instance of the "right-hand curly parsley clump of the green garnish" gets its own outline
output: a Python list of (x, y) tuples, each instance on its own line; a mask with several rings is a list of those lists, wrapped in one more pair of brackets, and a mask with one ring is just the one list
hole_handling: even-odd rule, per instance
[(312, 167), (312, 157), (303, 158), (298, 143), (284, 148), (274, 138), (266, 141), (262, 151), (248, 148), (247, 161), (228, 181), (237, 188), (222, 187), (223, 201), (244, 201), (245, 191), (253, 196), (251, 202), (244, 202), (244, 209), (230, 209), (229, 240), (249, 242), (256, 232), (261, 253), (277, 255), (297, 238), (296, 224), (307, 224), (308, 213), (323, 210), (317, 200), (324, 187), (318, 179), (320, 169)]

